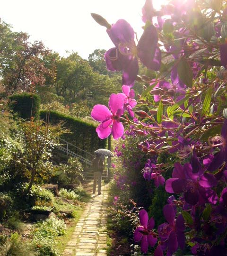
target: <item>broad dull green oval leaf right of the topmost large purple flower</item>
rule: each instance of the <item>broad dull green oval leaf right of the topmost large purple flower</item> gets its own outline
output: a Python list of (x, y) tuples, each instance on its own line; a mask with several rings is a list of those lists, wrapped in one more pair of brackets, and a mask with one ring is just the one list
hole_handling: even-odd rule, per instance
[(180, 80), (188, 87), (192, 87), (193, 73), (190, 65), (185, 58), (182, 58), (177, 65), (177, 73)]

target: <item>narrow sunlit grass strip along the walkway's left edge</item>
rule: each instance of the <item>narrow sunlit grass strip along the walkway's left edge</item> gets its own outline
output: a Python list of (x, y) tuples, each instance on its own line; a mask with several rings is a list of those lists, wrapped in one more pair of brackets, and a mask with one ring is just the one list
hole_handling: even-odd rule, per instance
[(67, 229), (65, 231), (65, 234), (56, 238), (56, 240), (55, 240), (56, 241), (56, 247), (60, 251), (60, 253), (63, 252), (67, 243), (70, 241), (72, 233), (74, 232), (75, 226), (77, 225), (77, 222), (78, 222), (82, 212), (83, 212), (82, 208), (79, 208), (79, 209), (75, 210), (74, 219), (72, 219), (67, 224)]

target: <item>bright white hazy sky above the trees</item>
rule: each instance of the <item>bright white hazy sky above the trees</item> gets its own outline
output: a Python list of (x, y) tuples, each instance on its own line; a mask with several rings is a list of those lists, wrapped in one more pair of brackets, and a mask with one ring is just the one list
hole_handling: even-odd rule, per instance
[[(141, 8), (145, 0), (2, 0), (0, 18), (14, 31), (23, 31), (30, 40), (40, 40), (49, 49), (67, 56), (78, 52), (87, 59), (95, 49), (113, 47), (90, 13), (102, 15), (110, 24), (126, 19), (140, 37)], [(166, 0), (153, 0), (155, 8)]]

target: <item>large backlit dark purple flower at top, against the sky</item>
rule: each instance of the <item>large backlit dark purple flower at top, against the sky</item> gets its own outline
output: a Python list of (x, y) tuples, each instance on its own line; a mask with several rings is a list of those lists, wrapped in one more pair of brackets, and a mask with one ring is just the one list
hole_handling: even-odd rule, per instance
[(106, 67), (110, 71), (122, 71), (122, 84), (133, 86), (139, 71), (138, 58), (147, 68), (159, 70), (161, 51), (153, 25), (144, 29), (137, 46), (134, 30), (124, 19), (119, 19), (106, 32), (115, 45), (105, 53)]

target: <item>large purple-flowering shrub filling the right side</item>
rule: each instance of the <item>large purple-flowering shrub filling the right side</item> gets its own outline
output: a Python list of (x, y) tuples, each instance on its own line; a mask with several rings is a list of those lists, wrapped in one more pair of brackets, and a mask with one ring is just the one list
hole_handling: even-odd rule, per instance
[[(149, 158), (142, 167), (145, 180), (157, 188), (165, 186), (169, 193), (163, 207), (165, 222), (155, 230), (155, 219), (148, 222), (147, 212), (141, 210), (135, 241), (141, 241), (143, 253), (148, 246), (154, 247), (154, 256), (225, 256), (226, 0), (170, 0), (159, 11), (146, 0), (145, 24), (137, 45), (127, 21), (110, 25), (97, 14), (92, 17), (106, 27), (114, 44), (105, 61), (108, 70), (122, 71), (122, 91), (133, 90), (136, 80), (146, 85), (137, 106), (129, 103), (134, 101), (133, 93), (122, 92), (111, 94), (110, 110), (94, 106), (91, 116), (100, 122), (98, 136), (112, 133), (117, 139), (123, 136), (123, 124), (129, 125), (129, 132), (140, 136), (141, 152)], [(138, 76), (139, 61), (157, 71), (154, 79)], [(139, 120), (130, 118), (135, 106)], [(129, 116), (125, 110), (130, 110)], [(161, 161), (158, 155), (165, 159)], [(125, 176), (122, 180), (123, 188)]]

